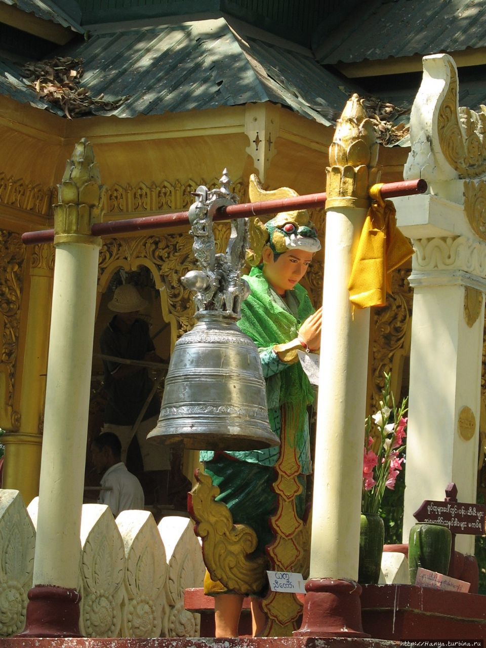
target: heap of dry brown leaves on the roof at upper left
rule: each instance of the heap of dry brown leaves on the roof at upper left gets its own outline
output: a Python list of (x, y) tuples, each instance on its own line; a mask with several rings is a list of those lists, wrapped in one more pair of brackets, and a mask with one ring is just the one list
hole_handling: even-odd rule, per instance
[(58, 56), (46, 61), (36, 61), (23, 66), (22, 75), (39, 98), (59, 106), (68, 119), (82, 117), (93, 109), (115, 110), (129, 96), (108, 101), (104, 95), (91, 97), (86, 87), (80, 87), (84, 74), (82, 58)]

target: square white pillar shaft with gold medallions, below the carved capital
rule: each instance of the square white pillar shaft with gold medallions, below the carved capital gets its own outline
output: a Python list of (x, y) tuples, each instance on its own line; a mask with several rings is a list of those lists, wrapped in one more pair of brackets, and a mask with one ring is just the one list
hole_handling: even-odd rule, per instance
[[(410, 277), (414, 293), (404, 542), (416, 523), (414, 511), (423, 500), (443, 500), (448, 483), (456, 483), (459, 501), (476, 502), (484, 329), (483, 293), (476, 288), (484, 289), (486, 283), (458, 274), (436, 270)], [(470, 303), (476, 303), (474, 314), (465, 312), (466, 291)], [(474, 536), (458, 535), (456, 549), (474, 554)]]

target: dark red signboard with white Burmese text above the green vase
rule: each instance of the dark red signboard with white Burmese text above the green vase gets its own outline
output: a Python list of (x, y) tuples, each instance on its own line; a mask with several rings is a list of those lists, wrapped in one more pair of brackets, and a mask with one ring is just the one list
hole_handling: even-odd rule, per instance
[(435, 502), (425, 500), (413, 513), (417, 522), (441, 524), (451, 533), (485, 535), (486, 506), (465, 502)]

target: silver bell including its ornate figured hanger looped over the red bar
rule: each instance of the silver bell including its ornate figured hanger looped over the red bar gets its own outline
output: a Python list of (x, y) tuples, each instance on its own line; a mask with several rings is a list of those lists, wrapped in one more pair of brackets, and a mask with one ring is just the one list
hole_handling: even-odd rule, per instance
[(147, 438), (194, 450), (257, 450), (280, 441), (268, 423), (258, 349), (235, 324), (249, 292), (240, 278), (246, 221), (231, 221), (226, 254), (216, 254), (213, 214), (238, 201), (228, 189), (226, 169), (220, 183), (212, 191), (198, 187), (189, 209), (200, 270), (188, 272), (182, 283), (194, 293), (198, 322), (176, 342), (159, 421)]

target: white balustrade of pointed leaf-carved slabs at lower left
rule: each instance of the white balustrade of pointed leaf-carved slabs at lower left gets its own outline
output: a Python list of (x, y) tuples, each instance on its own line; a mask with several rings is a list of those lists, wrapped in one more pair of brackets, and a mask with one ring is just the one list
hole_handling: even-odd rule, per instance
[[(0, 637), (23, 630), (32, 587), (38, 498), (28, 509), (18, 491), (0, 489)], [(80, 631), (87, 637), (199, 635), (184, 589), (201, 587), (204, 564), (189, 518), (159, 527), (148, 511), (115, 520), (102, 504), (82, 508), (78, 588)]]

